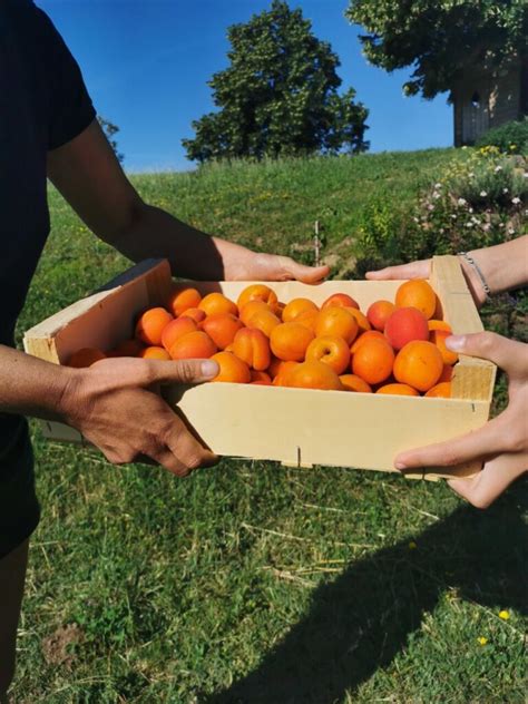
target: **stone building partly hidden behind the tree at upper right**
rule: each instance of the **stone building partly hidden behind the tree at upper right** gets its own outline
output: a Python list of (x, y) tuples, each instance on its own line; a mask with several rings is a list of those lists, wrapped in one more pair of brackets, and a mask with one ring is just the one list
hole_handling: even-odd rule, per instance
[(528, 60), (468, 68), (453, 85), (451, 100), (454, 146), (475, 144), (488, 129), (528, 115)]

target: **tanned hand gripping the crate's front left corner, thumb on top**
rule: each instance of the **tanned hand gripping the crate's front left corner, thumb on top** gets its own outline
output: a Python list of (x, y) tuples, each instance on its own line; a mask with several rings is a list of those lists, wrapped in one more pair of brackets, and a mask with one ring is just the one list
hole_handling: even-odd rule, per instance
[(217, 461), (159, 395), (164, 384), (211, 380), (214, 361), (108, 359), (71, 372), (58, 410), (110, 462), (148, 458), (185, 477)]

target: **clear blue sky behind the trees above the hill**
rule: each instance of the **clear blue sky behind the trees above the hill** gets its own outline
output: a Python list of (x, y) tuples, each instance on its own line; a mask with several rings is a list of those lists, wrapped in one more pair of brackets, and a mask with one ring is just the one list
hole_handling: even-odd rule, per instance
[[(96, 109), (119, 126), (130, 172), (188, 169), (183, 137), (213, 109), (206, 81), (227, 66), (229, 25), (246, 22), (271, 0), (36, 0), (78, 60)], [(452, 144), (446, 96), (405, 98), (409, 71), (369, 66), (343, 16), (346, 0), (291, 0), (341, 59), (342, 88), (353, 86), (370, 109), (372, 151)]]

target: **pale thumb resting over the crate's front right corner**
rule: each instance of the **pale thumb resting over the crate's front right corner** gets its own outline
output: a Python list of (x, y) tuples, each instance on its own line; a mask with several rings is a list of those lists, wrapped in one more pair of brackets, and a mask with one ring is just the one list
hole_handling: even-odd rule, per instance
[(453, 352), (489, 360), (505, 371), (518, 372), (526, 368), (527, 345), (495, 332), (450, 335), (446, 339), (446, 346)]

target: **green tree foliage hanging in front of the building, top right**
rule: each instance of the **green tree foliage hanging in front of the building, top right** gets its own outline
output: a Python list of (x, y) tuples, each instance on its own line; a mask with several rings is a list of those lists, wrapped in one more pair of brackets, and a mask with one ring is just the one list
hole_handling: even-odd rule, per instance
[(527, 57), (527, 0), (350, 0), (346, 17), (366, 29), (360, 39), (371, 63), (413, 67), (408, 95), (450, 90), (468, 63)]

